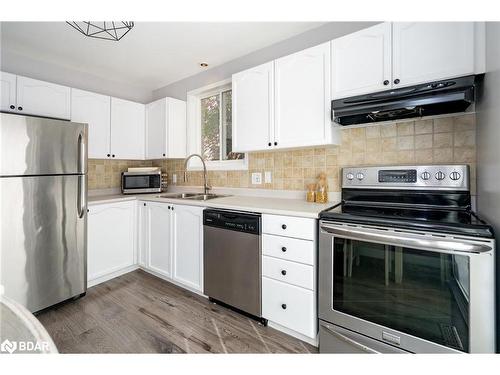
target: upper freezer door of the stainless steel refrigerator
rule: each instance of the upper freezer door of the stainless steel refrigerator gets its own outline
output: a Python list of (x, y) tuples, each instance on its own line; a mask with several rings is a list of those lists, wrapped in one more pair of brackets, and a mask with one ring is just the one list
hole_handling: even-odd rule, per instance
[(0, 113), (0, 176), (86, 174), (87, 124)]

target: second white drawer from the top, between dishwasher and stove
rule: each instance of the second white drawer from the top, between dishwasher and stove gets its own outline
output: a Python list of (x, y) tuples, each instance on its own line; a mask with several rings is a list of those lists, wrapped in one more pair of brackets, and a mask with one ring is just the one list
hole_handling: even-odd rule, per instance
[(272, 234), (262, 235), (262, 254), (313, 266), (315, 242)]

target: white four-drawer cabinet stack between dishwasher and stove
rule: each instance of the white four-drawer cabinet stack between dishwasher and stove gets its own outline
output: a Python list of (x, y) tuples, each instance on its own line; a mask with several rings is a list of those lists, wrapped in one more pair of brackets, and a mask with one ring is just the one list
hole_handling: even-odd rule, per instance
[(262, 315), (316, 339), (315, 219), (262, 216)]

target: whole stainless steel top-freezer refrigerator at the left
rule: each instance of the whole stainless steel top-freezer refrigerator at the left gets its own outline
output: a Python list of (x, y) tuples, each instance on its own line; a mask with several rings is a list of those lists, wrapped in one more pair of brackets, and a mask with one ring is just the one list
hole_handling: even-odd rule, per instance
[(36, 312), (87, 289), (87, 124), (0, 113), (0, 285)]

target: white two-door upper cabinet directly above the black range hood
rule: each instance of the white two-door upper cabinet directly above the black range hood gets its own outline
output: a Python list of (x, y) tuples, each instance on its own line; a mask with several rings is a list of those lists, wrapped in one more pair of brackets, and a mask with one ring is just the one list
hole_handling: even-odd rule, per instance
[(332, 41), (333, 98), (484, 73), (481, 22), (385, 22)]

